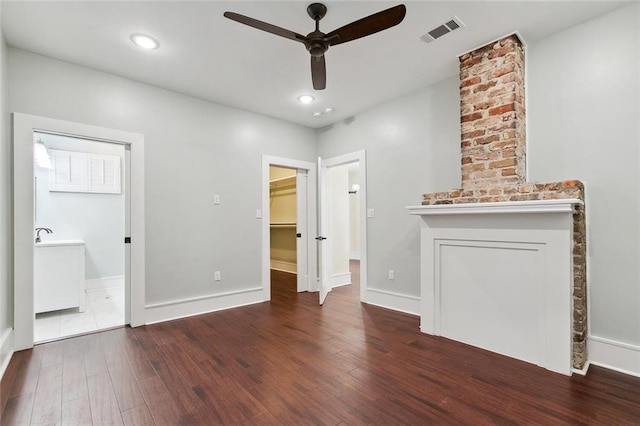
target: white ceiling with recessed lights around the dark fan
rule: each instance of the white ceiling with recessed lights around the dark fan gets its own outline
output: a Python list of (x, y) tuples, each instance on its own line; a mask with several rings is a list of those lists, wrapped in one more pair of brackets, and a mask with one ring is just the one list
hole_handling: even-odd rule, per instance
[[(3, 1), (10, 46), (174, 90), (201, 99), (319, 128), (457, 74), (457, 56), (518, 32), (525, 43), (628, 2), (409, 1), (404, 21), (326, 54), (327, 88), (314, 91), (309, 54), (300, 43), (222, 16), (237, 12), (300, 34), (313, 30), (310, 1)], [(326, 1), (328, 33), (399, 2)], [(420, 36), (457, 16), (466, 28), (432, 43)], [(160, 41), (141, 51), (129, 40)], [(310, 93), (307, 106), (296, 97)], [(314, 111), (333, 107), (321, 118)]]

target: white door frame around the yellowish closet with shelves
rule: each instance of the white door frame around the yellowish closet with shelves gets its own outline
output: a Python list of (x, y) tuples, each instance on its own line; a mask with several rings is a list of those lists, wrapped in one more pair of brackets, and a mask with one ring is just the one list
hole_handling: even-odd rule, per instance
[[(306, 246), (309, 283), (307, 291), (318, 290), (316, 248), (316, 166), (290, 158), (262, 156), (262, 291), (263, 300), (271, 300), (271, 212), (269, 208), (269, 166), (287, 167), (307, 172)], [(297, 203), (296, 203), (297, 204)], [(296, 212), (296, 215), (298, 212)], [(299, 218), (296, 221), (300, 220)]]

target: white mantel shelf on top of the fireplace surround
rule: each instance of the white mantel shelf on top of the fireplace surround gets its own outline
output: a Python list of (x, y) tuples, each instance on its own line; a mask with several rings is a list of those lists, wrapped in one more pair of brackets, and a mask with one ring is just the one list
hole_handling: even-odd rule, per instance
[(434, 204), (408, 206), (409, 214), (436, 216), (453, 214), (506, 214), (506, 213), (574, 213), (576, 205), (584, 204), (578, 199), (501, 201), (494, 203)]

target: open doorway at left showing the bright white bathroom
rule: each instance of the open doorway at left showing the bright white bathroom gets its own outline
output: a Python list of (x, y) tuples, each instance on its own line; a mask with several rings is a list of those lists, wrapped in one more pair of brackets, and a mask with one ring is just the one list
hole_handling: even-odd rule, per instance
[(124, 326), (125, 146), (34, 132), (34, 343)]

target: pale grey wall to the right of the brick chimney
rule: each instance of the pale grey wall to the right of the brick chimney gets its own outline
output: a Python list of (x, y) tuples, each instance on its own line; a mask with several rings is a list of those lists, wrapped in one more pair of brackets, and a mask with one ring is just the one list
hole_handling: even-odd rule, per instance
[(527, 50), (529, 176), (586, 183), (590, 334), (632, 345), (640, 344), (638, 8)]

